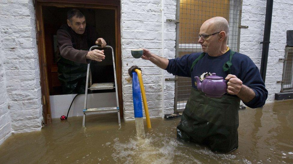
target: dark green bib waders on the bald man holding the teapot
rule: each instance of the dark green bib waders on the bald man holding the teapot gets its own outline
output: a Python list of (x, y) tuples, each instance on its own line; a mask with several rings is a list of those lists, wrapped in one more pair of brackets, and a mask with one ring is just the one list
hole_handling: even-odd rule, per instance
[[(223, 66), (228, 73), (234, 53), (230, 51), (230, 61)], [(195, 59), (191, 69), (203, 56), (204, 53)], [(238, 97), (223, 95), (221, 98), (212, 98), (192, 88), (177, 126), (177, 138), (208, 145), (212, 151), (224, 153), (238, 148), (239, 106)]]

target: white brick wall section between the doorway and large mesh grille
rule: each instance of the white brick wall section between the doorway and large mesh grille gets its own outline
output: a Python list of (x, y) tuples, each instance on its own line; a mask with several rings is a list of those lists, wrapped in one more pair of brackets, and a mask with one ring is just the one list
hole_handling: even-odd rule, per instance
[[(152, 62), (134, 59), (130, 50), (147, 48), (162, 56), (162, 4), (161, 0), (121, 0), (122, 83), (124, 118), (133, 119), (132, 81), (128, 68), (142, 68), (150, 117), (162, 116), (162, 69)], [(176, 0), (166, 0), (164, 19), (176, 18)], [(164, 56), (175, 56), (176, 25), (164, 23)], [(170, 74), (165, 71), (165, 78)], [(164, 79), (165, 80), (165, 79)], [(164, 113), (174, 112), (174, 81), (165, 82)]]

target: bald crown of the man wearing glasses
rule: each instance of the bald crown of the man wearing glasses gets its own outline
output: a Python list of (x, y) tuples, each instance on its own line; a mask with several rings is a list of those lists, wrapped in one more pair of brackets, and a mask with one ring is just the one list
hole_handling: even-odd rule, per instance
[(228, 40), (228, 35), (229, 35), (229, 24), (228, 21), (220, 16), (213, 17), (211, 19), (206, 20), (202, 26), (205, 26), (207, 28), (210, 28), (212, 33), (217, 33), (221, 31), (225, 31), (225, 41), (227, 42)]

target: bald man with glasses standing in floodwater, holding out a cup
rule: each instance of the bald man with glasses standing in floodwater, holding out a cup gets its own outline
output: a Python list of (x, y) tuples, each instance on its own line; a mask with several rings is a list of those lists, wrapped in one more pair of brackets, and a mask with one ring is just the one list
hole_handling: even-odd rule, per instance
[[(191, 96), (186, 103), (177, 138), (208, 145), (212, 151), (229, 152), (238, 147), (238, 109), (240, 100), (250, 108), (264, 105), (267, 90), (252, 60), (227, 47), (229, 24), (223, 17), (205, 21), (198, 35), (203, 53), (166, 59), (144, 49), (142, 59), (150, 60), (177, 76), (191, 77)], [(216, 73), (228, 81), (227, 94), (211, 98), (199, 91), (195, 76)]]

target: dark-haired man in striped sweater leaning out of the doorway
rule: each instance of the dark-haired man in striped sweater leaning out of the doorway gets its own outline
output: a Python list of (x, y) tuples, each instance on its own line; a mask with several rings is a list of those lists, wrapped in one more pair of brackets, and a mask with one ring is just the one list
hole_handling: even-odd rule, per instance
[(57, 40), (61, 54), (57, 61), (58, 78), (63, 94), (84, 93), (87, 64), (105, 59), (104, 50), (89, 51), (89, 48), (95, 44), (104, 47), (105, 40), (86, 26), (85, 16), (77, 9), (68, 11), (67, 24), (57, 31)]

